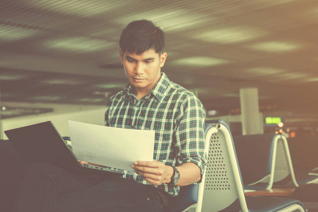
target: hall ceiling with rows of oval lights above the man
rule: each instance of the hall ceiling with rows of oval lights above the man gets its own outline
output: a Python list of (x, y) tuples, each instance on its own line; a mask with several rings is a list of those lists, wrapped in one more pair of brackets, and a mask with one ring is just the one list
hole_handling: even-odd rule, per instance
[(316, 0), (1, 0), (2, 107), (105, 105), (127, 83), (120, 33), (139, 19), (163, 28), (163, 71), (206, 110), (239, 114), (240, 88), (258, 88), (261, 112), (317, 122)]

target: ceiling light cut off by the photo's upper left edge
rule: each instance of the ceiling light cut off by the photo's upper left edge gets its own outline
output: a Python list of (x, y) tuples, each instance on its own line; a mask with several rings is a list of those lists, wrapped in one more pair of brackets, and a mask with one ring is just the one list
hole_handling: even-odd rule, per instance
[(0, 24), (0, 40), (21, 40), (39, 33), (37, 30)]

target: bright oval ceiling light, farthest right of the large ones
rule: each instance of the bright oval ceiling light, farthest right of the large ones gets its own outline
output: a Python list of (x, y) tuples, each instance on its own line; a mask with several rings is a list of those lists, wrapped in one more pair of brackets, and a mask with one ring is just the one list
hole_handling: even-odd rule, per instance
[(288, 42), (264, 42), (257, 45), (252, 45), (251, 48), (265, 52), (288, 52), (298, 49), (300, 46)]

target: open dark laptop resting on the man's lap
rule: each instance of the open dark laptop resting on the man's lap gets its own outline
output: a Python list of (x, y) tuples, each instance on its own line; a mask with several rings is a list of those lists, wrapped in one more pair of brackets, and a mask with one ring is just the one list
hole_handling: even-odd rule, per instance
[(80, 164), (52, 122), (42, 122), (4, 131), (27, 163), (49, 163), (71, 172), (123, 175), (124, 170)]

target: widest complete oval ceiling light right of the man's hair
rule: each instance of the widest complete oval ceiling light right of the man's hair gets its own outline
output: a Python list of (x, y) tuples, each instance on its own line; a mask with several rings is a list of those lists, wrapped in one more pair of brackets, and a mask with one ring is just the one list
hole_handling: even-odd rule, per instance
[(200, 39), (207, 42), (216, 42), (221, 44), (244, 42), (261, 37), (265, 33), (261, 30), (250, 28), (223, 28), (218, 30), (211, 30), (206, 33), (200, 33), (194, 36), (194, 39)]

